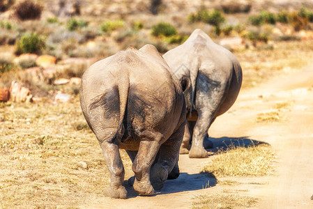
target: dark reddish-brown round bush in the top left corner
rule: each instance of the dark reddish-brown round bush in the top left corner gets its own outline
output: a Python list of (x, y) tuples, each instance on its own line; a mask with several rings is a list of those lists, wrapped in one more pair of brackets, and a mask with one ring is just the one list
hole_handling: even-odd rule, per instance
[(26, 0), (16, 6), (15, 15), (20, 20), (35, 20), (40, 18), (42, 11), (42, 6)]

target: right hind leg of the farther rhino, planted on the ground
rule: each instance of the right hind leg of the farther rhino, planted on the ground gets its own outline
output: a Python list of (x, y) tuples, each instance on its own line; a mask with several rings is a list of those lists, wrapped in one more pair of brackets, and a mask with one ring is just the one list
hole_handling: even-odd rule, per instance
[(209, 110), (199, 111), (199, 117), (192, 134), (192, 146), (189, 151), (190, 158), (208, 157), (208, 152), (204, 148), (204, 140), (208, 140), (208, 128), (213, 121), (212, 112)]

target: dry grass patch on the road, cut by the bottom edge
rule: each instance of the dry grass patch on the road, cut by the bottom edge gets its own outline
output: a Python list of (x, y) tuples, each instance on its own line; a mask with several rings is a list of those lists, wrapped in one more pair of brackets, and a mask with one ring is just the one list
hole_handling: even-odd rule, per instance
[(224, 190), (222, 194), (200, 195), (194, 199), (192, 208), (250, 208), (257, 203), (256, 198), (237, 193)]

